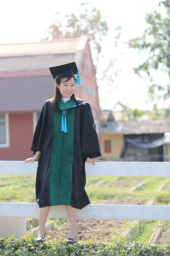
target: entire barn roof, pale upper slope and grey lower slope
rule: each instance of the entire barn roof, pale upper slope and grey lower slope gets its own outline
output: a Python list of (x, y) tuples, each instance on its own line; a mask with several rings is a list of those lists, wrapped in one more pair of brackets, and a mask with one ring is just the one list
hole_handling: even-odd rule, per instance
[(80, 67), (88, 42), (81, 38), (0, 45), (0, 112), (40, 111), (54, 96), (49, 67), (75, 61)]

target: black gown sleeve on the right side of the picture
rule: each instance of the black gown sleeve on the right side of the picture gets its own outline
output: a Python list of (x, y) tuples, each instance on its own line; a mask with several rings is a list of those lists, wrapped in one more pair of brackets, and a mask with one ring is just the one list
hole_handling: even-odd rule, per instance
[(95, 158), (101, 156), (94, 117), (91, 106), (88, 103), (84, 105), (82, 117), (82, 156), (85, 161), (88, 157)]

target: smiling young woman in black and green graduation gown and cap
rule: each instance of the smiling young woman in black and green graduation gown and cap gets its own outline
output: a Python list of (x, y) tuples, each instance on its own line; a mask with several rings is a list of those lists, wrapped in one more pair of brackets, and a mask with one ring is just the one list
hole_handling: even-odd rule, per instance
[(81, 84), (76, 63), (51, 67), (50, 71), (55, 94), (42, 106), (31, 145), (34, 157), (24, 163), (38, 161), (36, 200), (40, 212), (36, 241), (45, 241), (50, 207), (65, 205), (70, 220), (67, 243), (74, 243), (76, 209), (90, 204), (85, 192), (85, 161), (95, 165), (101, 160), (94, 158), (101, 153), (91, 106), (74, 95), (76, 83)]

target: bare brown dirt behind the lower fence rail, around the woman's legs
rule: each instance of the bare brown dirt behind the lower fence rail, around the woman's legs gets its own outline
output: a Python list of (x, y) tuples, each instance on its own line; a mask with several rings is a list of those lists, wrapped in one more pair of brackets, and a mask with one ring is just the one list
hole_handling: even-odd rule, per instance
[[(107, 200), (102, 201), (98, 204), (127, 204), (127, 205), (143, 205), (143, 201), (138, 200)], [(114, 234), (117, 233), (117, 230), (125, 226), (125, 220), (91, 220), (91, 219), (78, 219), (78, 239), (79, 241), (90, 241), (94, 242), (111, 242), (114, 239)], [(48, 240), (57, 239), (63, 241), (67, 238), (69, 225), (64, 223), (62, 226), (59, 226), (57, 230), (49, 230), (47, 235), (51, 237)]]

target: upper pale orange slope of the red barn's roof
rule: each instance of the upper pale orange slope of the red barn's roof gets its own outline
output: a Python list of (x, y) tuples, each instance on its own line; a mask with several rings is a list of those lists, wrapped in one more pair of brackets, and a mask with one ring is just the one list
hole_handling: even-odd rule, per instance
[(34, 43), (1, 44), (0, 73), (48, 70), (49, 67), (73, 61), (78, 62), (79, 66), (82, 60), (80, 53), (87, 41), (88, 37), (82, 36)]

